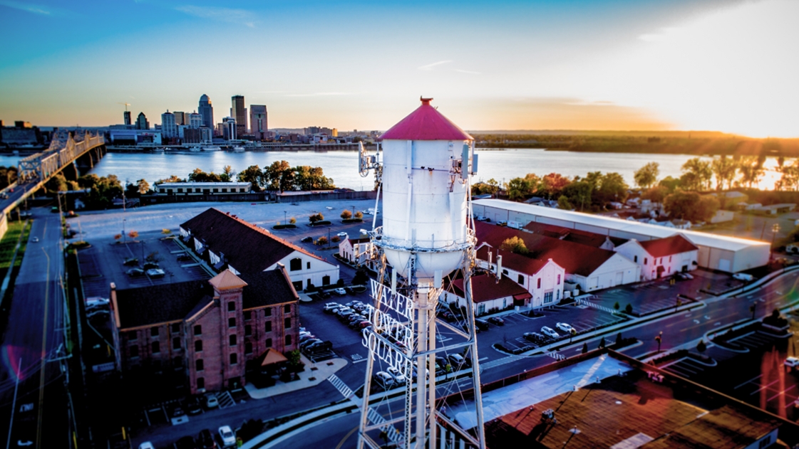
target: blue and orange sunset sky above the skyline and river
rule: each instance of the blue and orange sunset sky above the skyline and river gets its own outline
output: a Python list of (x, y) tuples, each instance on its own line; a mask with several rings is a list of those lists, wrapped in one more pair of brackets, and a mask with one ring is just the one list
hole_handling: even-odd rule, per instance
[[(231, 5), (226, 7), (221, 5)], [(0, 0), (0, 120), (105, 126), (202, 94), (270, 128), (799, 137), (799, 0)]]

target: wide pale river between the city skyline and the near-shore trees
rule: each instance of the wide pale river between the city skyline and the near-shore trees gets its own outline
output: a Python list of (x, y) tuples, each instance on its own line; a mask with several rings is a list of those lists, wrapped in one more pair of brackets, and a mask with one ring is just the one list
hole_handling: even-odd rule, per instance
[[(556, 172), (573, 177), (584, 176), (589, 171), (617, 171), (630, 186), (634, 186), (633, 173), (645, 163), (660, 163), (660, 178), (679, 177), (680, 167), (692, 156), (654, 155), (639, 153), (593, 153), (593, 152), (547, 152), (539, 148), (509, 148), (477, 150), (479, 154), (477, 181), (495, 179), (499, 183), (535, 173), (543, 176)], [(0, 165), (16, 165), (17, 156), (0, 156)], [(710, 160), (702, 157), (703, 160)], [(276, 160), (286, 160), (292, 166), (310, 165), (322, 167), (324, 174), (333, 179), (336, 187), (355, 190), (370, 189), (372, 176), (358, 175), (357, 152), (163, 152), (129, 153), (109, 152), (94, 166), (91, 173), (105, 176), (117, 175), (123, 181), (135, 183), (137, 179), (147, 179), (153, 183), (169, 175), (185, 178), (195, 168), (220, 173), (226, 165), (233, 171), (241, 171), (250, 165), (267, 167)], [(769, 158), (765, 162), (768, 169), (758, 187), (773, 189), (780, 175), (773, 171), (777, 160)]]

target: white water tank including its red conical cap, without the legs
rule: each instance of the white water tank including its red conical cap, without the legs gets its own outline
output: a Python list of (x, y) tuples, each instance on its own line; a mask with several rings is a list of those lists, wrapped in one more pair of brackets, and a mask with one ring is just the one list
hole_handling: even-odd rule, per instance
[(433, 108), (431, 98), (421, 100), (419, 108), (380, 137), (382, 246), (388, 263), (406, 278), (414, 251), (415, 277), (431, 282), (463, 261), (474, 139)]

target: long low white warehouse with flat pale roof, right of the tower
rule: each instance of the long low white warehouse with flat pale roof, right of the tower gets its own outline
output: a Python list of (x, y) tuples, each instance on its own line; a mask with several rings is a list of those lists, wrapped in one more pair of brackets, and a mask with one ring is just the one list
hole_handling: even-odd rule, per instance
[(769, 263), (769, 243), (759, 240), (694, 230), (674, 230), (664, 226), (514, 203), (503, 199), (476, 199), (473, 202), (473, 212), (492, 221), (518, 222), (522, 226), (530, 222), (547, 223), (610, 237), (635, 238), (639, 242), (682, 234), (699, 247), (699, 266), (726, 273), (737, 273)]

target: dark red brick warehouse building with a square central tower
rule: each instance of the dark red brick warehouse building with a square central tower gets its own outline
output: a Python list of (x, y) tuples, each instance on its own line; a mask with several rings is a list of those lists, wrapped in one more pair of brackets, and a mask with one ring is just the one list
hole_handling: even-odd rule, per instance
[(298, 300), (284, 266), (136, 289), (112, 284), (117, 368), (191, 394), (244, 384), (248, 360), (297, 348)]

